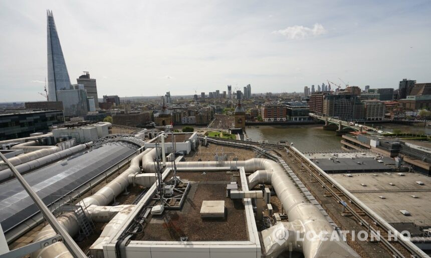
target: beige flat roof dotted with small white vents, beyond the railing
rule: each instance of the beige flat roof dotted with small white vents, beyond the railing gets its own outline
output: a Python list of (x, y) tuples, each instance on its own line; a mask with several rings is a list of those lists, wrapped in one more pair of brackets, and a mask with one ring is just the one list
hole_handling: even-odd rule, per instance
[[(388, 223), (414, 220), (416, 224), (431, 225), (431, 177), (418, 173), (402, 173), (404, 176), (399, 176), (397, 172), (357, 173), (351, 177), (345, 174), (330, 176)], [(417, 184), (416, 181), (423, 182), (423, 185)], [(405, 216), (399, 210), (407, 210), (411, 215)]]

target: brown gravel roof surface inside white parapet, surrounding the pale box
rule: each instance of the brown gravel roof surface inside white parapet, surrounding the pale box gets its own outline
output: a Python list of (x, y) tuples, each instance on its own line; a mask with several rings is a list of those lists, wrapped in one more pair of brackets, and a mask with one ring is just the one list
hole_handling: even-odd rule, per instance
[[(135, 240), (144, 241), (242, 241), (248, 240), (245, 207), (241, 199), (226, 197), (226, 187), (237, 181), (239, 172), (202, 171), (182, 172), (177, 176), (190, 182), (190, 189), (180, 210), (164, 210), (162, 216), (148, 216), (142, 234)], [(170, 175), (166, 179), (170, 179)], [(225, 218), (201, 218), (202, 201), (225, 201)]]

